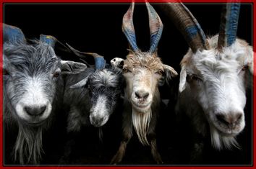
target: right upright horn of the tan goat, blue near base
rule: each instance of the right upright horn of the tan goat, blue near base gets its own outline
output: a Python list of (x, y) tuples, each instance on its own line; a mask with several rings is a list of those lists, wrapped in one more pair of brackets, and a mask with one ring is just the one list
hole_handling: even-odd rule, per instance
[(156, 48), (158, 47), (158, 42), (161, 38), (162, 32), (163, 32), (163, 23), (158, 16), (158, 14), (155, 12), (155, 9), (153, 9), (153, 6), (146, 3), (147, 9), (148, 9), (148, 19), (149, 19), (149, 25), (150, 25), (150, 52), (155, 52)]

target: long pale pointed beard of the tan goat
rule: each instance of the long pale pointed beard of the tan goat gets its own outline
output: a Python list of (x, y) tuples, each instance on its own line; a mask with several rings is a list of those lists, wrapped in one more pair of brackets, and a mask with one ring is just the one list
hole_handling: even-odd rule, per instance
[(150, 145), (147, 140), (147, 133), (151, 117), (151, 109), (148, 112), (140, 112), (132, 109), (132, 124), (142, 145)]

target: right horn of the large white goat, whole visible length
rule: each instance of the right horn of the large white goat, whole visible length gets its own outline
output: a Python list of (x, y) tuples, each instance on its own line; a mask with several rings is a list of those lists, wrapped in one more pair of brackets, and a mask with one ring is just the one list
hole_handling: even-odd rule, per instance
[(218, 50), (230, 46), (236, 40), (240, 4), (226, 4), (221, 12), (221, 24), (218, 35)]

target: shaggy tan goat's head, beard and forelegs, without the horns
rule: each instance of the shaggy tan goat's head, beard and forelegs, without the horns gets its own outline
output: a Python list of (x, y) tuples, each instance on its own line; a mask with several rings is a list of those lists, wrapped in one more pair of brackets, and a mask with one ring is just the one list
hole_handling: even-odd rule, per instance
[[(127, 143), (132, 137), (132, 128), (135, 129), (142, 145), (150, 145), (156, 163), (162, 163), (155, 141), (155, 125), (160, 105), (158, 84), (162, 78), (170, 81), (171, 76), (177, 75), (176, 71), (168, 65), (163, 65), (156, 52), (130, 51), (126, 60), (114, 58), (111, 60), (111, 64), (116, 68), (122, 67), (126, 81), (126, 87), (124, 88), (123, 140), (111, 163), (121, 162)], [(142, 95), (141, 98), (138, 96), (140, 94)]]

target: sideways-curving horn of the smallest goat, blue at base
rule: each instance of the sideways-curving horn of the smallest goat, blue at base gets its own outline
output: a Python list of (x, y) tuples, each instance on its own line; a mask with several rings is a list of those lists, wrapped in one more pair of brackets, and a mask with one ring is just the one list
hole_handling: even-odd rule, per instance
[[(67, 43), (66, 43), (67, 44)], [(102, 55), (98, 55), (98, 53), (95, 52), (80, 52), (79, 50), (74, 49), (74, 47), (67, 44), (67, 46), (74, 52), (75, 55), (79, 56), (80, 58), (86, 58), (85, 55), (92, 55), (95, 61), (95, 69), (96, 70), (102, 70), (105, 68), (106, 60)]]

